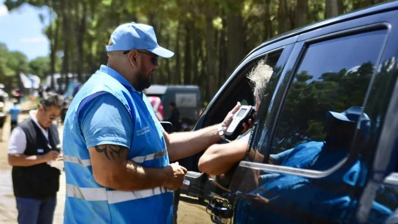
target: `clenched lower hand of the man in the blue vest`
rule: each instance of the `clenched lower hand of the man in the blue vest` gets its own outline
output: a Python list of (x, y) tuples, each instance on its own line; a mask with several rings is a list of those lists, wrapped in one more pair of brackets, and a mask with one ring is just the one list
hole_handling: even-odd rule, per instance
[(181, 185), (182, 181), (184, 180), (184, 176), (187, 173), (187, 169), (178, 165), (178, 162), (171, 163), (167, 167), (162, 169), (167, 175), (167, 181), (163, 184), (163, 187), (166, 187), (170, 190), (178, 190)]

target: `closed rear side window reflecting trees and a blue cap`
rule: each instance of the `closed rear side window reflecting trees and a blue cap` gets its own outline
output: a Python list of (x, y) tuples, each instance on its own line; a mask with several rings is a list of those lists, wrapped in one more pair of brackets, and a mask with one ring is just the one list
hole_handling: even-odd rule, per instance
[[(325, 170), (347, 155), (357, 122), (367, 125), (362, 106), (385, 36), (376, 30), (308, 44), (279, 116), (271, 163)], [(322, 157), (322, 149), (333, 153)]]

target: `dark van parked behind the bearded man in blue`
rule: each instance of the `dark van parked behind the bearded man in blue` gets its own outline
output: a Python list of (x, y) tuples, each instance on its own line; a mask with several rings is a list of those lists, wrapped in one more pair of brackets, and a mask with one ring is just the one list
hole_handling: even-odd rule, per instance
[[(163, 108), (163, 120), (170, 118), (169, 106), (170, 103), (174, 102), (179, 110), (183, 129), (196, 122), (203, 104), (199, 86), (195, 85), (151, 85), (144, 92), (148, 97), (156, 96), (160, 98), (161, 105), (159, 106)], [(154, 108), (155, 112), (158, 108)]]

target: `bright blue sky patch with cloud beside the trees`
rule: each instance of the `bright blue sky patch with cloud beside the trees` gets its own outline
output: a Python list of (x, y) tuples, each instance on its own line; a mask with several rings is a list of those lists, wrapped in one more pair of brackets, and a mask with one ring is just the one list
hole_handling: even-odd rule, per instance
[[(37, 8), (28, 4), (8, 11), (0, 0), (0, 43), (5, 43), (9, 51), (21, 51), (31, 61), (36, 57), (45, 57), (50, 53), (50, 41), (43, 34), (49, 24), (48, 8)], [(39, 19), (45, 17), (45, 24)]]

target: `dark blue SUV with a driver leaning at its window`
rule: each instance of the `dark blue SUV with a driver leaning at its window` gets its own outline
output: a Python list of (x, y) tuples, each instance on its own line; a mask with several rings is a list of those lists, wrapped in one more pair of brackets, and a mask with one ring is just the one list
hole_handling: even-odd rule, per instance
[(246, 75), (261, 59), (274, 72), (245, 159), (220, 176), (199, 173), (200, 153), (181, 160), (189, 186), (176, 192), (174, 223), (398, 223), (398, 2), (259, 45), (195, 130), (237, 101), (254, 105)]

